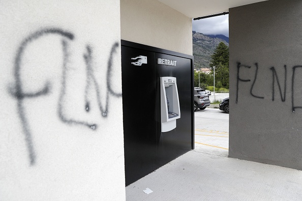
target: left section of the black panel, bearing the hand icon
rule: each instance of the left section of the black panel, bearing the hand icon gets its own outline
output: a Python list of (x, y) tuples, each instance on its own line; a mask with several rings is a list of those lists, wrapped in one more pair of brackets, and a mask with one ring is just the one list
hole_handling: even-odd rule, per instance
[[(131, 58), (147, 56), (136, 66)], [(126, 185), (153, 172), (156, 160), (154, 52), (122, 46), (122, 90)], [(122, 109), (122, 108), (121, 108)]]

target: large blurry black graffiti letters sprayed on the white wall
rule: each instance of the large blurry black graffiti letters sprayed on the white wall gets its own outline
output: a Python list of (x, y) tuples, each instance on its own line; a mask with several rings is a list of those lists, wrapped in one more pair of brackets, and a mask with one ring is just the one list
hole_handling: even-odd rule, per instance
[[(42, 29), (40, 31), (37, 31), (33, 33), (32, 35), (28, 36), (25, 38), (17, 51), (16, 58), (15, 58), (15, 63), (14, 63), (14, 78), (15, 78), (15, 85), (14, 87), (9, 88), (9, 92), (17, 99), (17, 111), (19, 114), (19, 118), (22, 124), (22, 129), (24, 132), (25, 136), (25, 143), (27, 146), (28, 150), (28, 157), (29, 157), (29, 163), (30, 165), (34, 165), (36, 162), (36, 152), (34, 149), (33, 145), (33, 140), (32, 140), (32, 131), (29, 126), (28, 120), (26, 118), (26, 114), (24, 111), (24, 104), (23, 100), (25, 98), (34, 98), (34, 97), (39, 97), (41, 95), (46, 95), (49, 93), (51, 85), (50, 82), (47, 81), (42, 87), (41, 90), (37, 92), (32, 92), (32, 93), (27, 93), (24, 92), (23, 90), (23, 84), (21, 82), (21, 61), (22, 61), (22, 56), (24, 54), (24, 51), (26, 50), (26, 47), (28, 46), (29, 43), (37, 40), (38, 38), (41, 38), (46, 35), (50, 34), (55, 34), (63, 37), (62, 41), (62, 47), (63, 47), (63, 75), (62, 75), (62, 89), (59, 94), (59, 100), (58, 100), (58, 117), (61, 119), (62, 122), (67, 123), (67, 124), (80, 124), (87, 126), (93, 130), (97, 128), (97, 124), (91, 124), (85, 121), (78, 121), (72, 118), (67, 118), (66, 115), (64, 114), (64, 107), (63, 107), (63, 99), (66, 94), (66, 76), (67, 76), (67, 63), (69, 61), (69, 52), (68, 52), (68, 43), (74, 39), (74, 35), (71, 32), (64, 31), (59, 28), (49, 28), (49, 29)], [(68, 39), (68, 40), (66, 40)], [(116, 93), (111, 89), (111, 72), (112, 72), (112, 60), (114, 54), (116, 54), (116, 49), (118, 48), (118, 43), (114, 43), (111, 48), (110, 52), (110, 57), (108, 58), (108, 63), (107, 63), (107, 93), (106, 93), (106, 104), (105, 104), (105, 109), (102, 108), (101, 104), (101, 97), (100, 97), (100, 88), (97, 84), (96, 78), (94, 76), (94, 71), (93, 71), (93, 66), (92, 66), (92, 48), (90, 46), (87, 46), (87, 53), (84, 54), (84, 60), (86, 63), (86, 70), (87, 70), (87, 78), (86, 78), (86, 88), (85, 88), (85, 106), (84, 109), (89, 112), (90, 106), (89, 106), (89, 101), (87, 99), (87, 94), (88, 94), (88, 89), (90, 86), (93, 84), (95, 90), (97, 91), (97, 100), (98, 100), (98, 105), (100, 108), (100, 111), (102, 113), (103, 117), (108, 116), (108, 96), (109, 94), (115, 97), (120, 97), (122, 96), (122, 93)]]

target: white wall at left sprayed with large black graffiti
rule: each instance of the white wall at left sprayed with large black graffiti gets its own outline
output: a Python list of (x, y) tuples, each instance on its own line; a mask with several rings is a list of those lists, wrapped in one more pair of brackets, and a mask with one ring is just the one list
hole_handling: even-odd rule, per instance
[(119, 1), (0, 14), (0, 200), (125, 200)]

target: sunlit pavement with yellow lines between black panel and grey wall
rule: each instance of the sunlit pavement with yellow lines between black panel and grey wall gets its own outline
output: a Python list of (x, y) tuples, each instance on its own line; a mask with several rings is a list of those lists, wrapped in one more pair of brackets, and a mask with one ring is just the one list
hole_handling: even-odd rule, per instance
[(219, 109), (206, 108), (195, 113), (196, 152), (228, 156), (229, 114)]

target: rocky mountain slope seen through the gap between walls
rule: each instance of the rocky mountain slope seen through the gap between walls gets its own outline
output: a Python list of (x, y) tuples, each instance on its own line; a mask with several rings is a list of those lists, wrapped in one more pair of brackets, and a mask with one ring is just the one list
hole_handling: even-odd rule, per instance
[(220, 42), (229, 46), (229, 38), (223, 35), (204, 35), (192, 31), (194, 69), (209, 68), (211, 55)]

